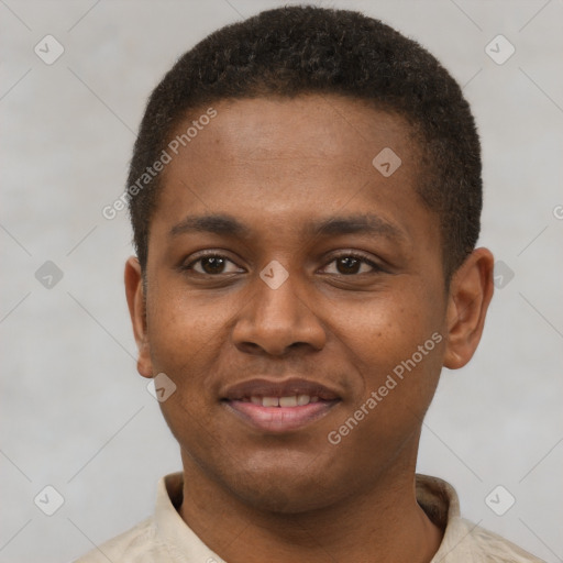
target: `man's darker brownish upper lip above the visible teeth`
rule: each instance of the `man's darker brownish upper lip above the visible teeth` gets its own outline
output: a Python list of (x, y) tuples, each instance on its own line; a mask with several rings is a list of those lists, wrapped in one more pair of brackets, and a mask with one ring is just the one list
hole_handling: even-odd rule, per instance
[(276, 382), (266, 378), (247, 379), (227, 387), (221, 398), (241, 400), (249, 397), (291, 397), (294, 395), (309, 395), (322, 400), (340, 399), (335, 390), (318, 382), (296, 377)]

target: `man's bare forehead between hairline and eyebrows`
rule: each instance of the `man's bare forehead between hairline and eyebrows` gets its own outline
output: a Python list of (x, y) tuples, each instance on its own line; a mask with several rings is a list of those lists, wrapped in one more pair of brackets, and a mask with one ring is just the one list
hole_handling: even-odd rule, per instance
[[(313, 217), (320, 223), (375, 210), (396, 224), (426, 211), (415, 190), (418, 144), (399, 115), (320, 95), (223, 100), (212, 109), (213, 119), (198, 120), (209, 114), (202, 107), (170, 135), (180, 143), (163, 173), (157, 223), (223, 214), (282, 233), (302, 231)], [(398, 227), (412, 230), (409, 221)]]

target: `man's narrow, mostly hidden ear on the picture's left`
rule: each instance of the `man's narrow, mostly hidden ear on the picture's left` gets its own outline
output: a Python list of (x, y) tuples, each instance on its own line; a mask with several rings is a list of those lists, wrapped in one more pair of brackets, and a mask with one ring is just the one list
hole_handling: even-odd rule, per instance
[(146, 310), (143, 289), (141, 264), (136, 256), (131, 256), (125, 263), (125, 294), (128, 297), (129, 314), (133, 324), (139, 358), (136, 369), (143, 377), (153, 377), (148, 336), (146, 331)]

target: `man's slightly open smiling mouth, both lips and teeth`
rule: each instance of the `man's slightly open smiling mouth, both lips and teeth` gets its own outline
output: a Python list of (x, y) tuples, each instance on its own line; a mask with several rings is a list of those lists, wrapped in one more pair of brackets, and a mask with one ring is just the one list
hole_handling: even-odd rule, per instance
[(228, 388), (221, 404), (254, 429), (284, 433), (327, 416), (341, 400), (335, 391), (306, 379), (252, 379)]

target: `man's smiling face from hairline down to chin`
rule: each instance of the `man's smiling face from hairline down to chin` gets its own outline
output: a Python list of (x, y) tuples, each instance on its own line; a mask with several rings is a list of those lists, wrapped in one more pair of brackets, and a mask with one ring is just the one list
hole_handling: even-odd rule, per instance
[(474, 346), (452, 350), (461, 300), (408, 126), (336, 96), (213, 108), (164, 170), (146, 310), (126, 268), (139, 371), (176, 385), (161, 406), (185, 472), (287, 511), (413, 472), (441, 367)]

